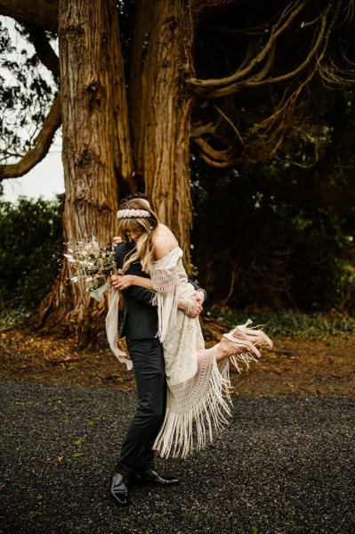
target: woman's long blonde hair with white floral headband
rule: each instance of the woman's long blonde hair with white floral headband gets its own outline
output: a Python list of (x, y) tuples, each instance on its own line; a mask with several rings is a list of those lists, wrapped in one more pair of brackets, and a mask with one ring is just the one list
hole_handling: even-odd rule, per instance
[[(131, 211), (128, 212), (128, 209)], [(136, 213), (132, 210), (136, 210)], [(143, 217), (141, 215), (143, 215)], [(129, 236), (126, 234), (127, 230), (141, 234), (133, 248), (133, 253), (130, 254), (128, 259), (125, 259), (122, 271), (125, 273), (131, 263), (139, 259), (141, 260), (141, 268), (143, 271), (149, 273), (149, 264), (154, 256), (153, 236), (156, 233), (157, 225), (159, 223), (157, 215), (149, 208), (149, 203), (147, 201), (132, 199), (130, 201), (125, 201), (119, 207), (117, 218), (118, 234), (124, 241), (129, 242), (130, 240)]]

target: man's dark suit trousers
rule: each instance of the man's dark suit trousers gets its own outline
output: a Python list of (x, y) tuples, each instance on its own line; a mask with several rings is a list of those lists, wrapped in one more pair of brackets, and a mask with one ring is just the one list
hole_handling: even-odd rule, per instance
[(138, 407), (115, 468), (125, 476), (154, 467), (152, 448), (166, 408), (165, 365), (160, 341), (157, 338), (127, 340), (127, 347), (133, 361)]

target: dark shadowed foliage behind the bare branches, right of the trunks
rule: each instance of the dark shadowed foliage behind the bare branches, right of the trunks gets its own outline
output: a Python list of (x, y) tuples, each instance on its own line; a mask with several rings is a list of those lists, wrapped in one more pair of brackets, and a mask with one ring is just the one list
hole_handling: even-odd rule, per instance
[[(267, 80), (258, 88), (255, 65), (246, 81), (241, 73), (270, 39), (278, 7), (269, 1), (253, 9), (236, 7), (234, 17), (231, 8), (198, 29), (197, 78), (238, 71), (239, 81), (235, 94), (218, 100), (211, 94), (204, 100), (201, 92), (194, 108), (196, 129), (201, 117), (213, 124), (203, 139), (222, 152), (217, 168), (198, 160), (200, 148), (191, 163), (193, 262), (210, 302), (222, 308), (350, 313), (355, 309), (351, 3), (305, 3), (301, 18), (278, 40)], [(309, 54), (319, 32), (306, 21), (319, 21), (328, 8), (331, 17), (339, 10), (339, 18), (328, 27), (316, 65)], [(307, 68), (296, 77), (269, 84), (307, 57)], [(226, 152), (232, 154), (230, 168), (223, 171)], [(206, 155), (215, 157), (211, 151)]]

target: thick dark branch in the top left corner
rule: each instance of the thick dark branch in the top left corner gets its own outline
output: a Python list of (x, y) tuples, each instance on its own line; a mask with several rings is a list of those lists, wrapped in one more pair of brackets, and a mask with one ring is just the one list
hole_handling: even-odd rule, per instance
[(37, 28), (58, 29), (57, 0), (0, 0), (0, 15)]

